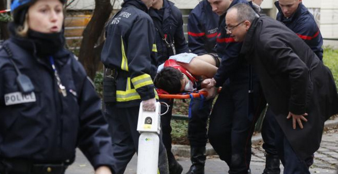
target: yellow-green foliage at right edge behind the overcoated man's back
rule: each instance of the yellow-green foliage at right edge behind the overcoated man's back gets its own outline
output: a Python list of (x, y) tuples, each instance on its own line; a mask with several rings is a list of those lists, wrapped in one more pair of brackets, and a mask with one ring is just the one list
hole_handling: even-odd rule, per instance
[(331, 47), (325, 47), (323, 62), (328, 68), (330, 68), (335, 85), (338, 86), (338, 50), (334, 50)]

